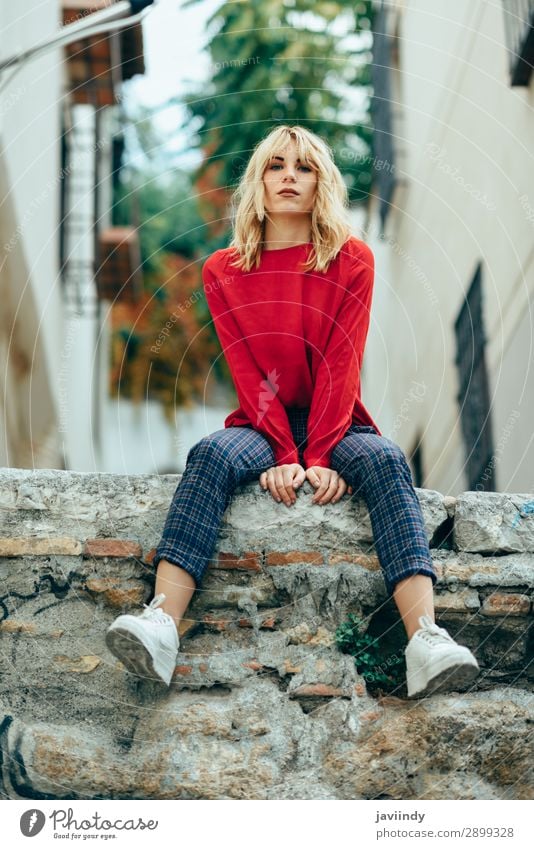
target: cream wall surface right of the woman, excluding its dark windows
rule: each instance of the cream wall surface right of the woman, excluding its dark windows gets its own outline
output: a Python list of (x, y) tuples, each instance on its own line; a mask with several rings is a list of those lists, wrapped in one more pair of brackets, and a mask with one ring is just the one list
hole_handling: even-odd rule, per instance
[(369, 228), (377, 269), (365, 400), (405, 451), (423, 434), (425, 486), (466, 488), (454, 321), (482, 261), (497, 487), (532, 491), (534, 83), (509, 85), (501, 4), (398, 5), (406, 187), (385, 239), (376, 214)]

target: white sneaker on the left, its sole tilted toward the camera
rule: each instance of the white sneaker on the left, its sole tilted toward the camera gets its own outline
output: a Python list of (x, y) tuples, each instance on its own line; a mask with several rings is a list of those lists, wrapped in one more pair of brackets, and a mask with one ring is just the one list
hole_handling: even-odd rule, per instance
[(169, 686), (180, 640), (174, 619), (159, 607), (163, 601), (160, 593), (140, 616), (117, 616), (106, 631), (106, 645), (129, 672)]

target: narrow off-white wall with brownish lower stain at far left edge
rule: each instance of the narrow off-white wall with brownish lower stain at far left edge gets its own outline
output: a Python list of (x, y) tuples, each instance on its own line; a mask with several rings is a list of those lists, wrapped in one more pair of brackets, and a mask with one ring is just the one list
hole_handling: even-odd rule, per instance
[[(0, 6), (0, 56), (55, 32), (58, 0)], [(52, 51), (11, 77), (0, 75), (0, 286), (2, 414), (0, 462), (61, 466), (59, 395), (62, 302), (57, 280), (62, 54)], [(8, 81), (6, 85), (6, 80)]]

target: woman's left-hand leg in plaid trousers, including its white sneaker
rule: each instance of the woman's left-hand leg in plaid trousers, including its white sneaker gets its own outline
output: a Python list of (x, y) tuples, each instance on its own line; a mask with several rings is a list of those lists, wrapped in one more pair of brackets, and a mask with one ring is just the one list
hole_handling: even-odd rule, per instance
[(106, 645), (130, 672), (169, 686), (178, 625), (202, 583), (232, 493), (273, 463), (269, 443), (252, 428), (224, 428), (191, 448), (154, 555), (154, 598), (143, 613), (118, 616), (106, 631)]

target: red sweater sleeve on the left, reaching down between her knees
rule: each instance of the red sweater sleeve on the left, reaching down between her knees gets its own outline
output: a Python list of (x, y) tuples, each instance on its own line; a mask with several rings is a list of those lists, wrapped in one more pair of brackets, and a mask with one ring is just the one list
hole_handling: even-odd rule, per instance
[(208, 262), (202, 268), (204, 292), (241, 408), (254, 424), (254, 429), (268, 440), (276, 465), (298, 463), (298, 450), (287, 413), (276, 394), (276, 369), (264, 374), (258, 368), (224, 298), (222, 285), (208, 267)]

